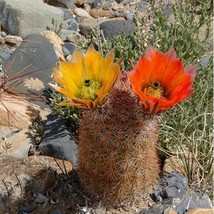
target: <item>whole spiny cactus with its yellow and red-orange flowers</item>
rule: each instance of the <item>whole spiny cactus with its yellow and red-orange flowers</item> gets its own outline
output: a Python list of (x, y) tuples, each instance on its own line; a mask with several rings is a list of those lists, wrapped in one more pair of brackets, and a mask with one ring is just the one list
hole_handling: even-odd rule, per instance
[(108, 205), (133, 201), (155, 185), (159, 113), (193, 92), (196, 69), (184, 69), (174, 50), (149, 47), (131, 72), (120, 75), (111, 52), (76, 51), (54, 69), (60, 105), (82, 108), (78, 131), (81, 182)]

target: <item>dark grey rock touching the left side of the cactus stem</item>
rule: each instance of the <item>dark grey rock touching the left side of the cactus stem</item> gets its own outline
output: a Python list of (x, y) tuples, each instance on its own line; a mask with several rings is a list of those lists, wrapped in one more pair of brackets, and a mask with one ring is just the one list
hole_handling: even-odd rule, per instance
[(50, 114), (39, 145), (41, 154), (70, 161), (77, 164), (77, 145), (66, 129), (65, 121), (56, 114)]

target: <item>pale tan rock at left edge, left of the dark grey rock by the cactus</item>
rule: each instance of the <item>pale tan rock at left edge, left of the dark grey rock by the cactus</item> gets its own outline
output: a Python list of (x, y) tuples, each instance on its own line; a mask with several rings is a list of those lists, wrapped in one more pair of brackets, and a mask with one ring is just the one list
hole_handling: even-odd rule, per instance
[(34, 139), (27, 129), (0, 126), (0, 155), (27, 157), (33, 144)]

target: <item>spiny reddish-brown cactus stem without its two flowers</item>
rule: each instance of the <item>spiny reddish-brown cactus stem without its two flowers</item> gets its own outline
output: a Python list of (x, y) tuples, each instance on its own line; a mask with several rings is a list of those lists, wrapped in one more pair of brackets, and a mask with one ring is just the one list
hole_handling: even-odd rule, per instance
[(105, 104), (83, 113), (78, 170), (84, 186), (107, 203), (132, 201), (154, 185), (158, 117), (143, 110), (123, 76)]

